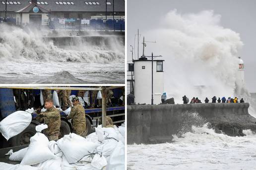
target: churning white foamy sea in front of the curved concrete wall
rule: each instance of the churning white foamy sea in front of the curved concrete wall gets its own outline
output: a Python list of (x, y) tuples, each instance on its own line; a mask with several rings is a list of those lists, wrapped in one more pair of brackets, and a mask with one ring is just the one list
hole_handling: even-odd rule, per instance
[(256, 134), (244, 137), (192, 127), (173, 143), (127, 146), (128, 170), (255, 170)]

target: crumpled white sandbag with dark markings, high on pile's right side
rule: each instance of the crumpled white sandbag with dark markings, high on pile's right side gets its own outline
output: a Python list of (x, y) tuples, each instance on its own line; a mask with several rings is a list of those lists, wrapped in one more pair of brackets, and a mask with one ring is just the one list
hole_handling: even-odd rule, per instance
[(105, 143), (107, 141), (118, 141), (118, 133), (113, 127), (96, 127), (95, 132), (98, 136), (98, 140)]

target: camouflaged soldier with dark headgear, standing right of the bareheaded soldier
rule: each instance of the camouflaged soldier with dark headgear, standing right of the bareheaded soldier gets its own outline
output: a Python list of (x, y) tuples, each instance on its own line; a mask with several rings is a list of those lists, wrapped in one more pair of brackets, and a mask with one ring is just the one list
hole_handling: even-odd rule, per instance
[(74, 97), (72, 103), (74, 107), (71, 109), (66, 119), (72, 119), (73, 132), (84, 137), (86, 124), (84, 108), (79, 102), (78, 97)]

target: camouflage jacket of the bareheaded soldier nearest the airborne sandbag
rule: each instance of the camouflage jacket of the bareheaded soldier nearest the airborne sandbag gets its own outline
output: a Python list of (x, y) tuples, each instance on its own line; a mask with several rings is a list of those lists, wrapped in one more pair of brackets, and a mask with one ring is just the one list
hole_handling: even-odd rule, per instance
[(61, 115), (60, 111), (55, 107), (47, 109), (44, 113), (41, 113), (44, 117), (37, 117), (36, 120), (47, 124), (48, 128), (44, 130), (47, 135), (54, 134), (60, 131), (61, 127)]

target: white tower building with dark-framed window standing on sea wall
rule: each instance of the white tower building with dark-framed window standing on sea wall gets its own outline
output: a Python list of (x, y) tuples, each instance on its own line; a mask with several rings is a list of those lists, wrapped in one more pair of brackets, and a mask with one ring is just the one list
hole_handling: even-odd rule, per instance
[[(161, 103), (164, 92), (164, 60), (153, 60), (153, 103)], [(151, 104), (152, 60), (142, 56), (134, 63), (134, 102)]]

